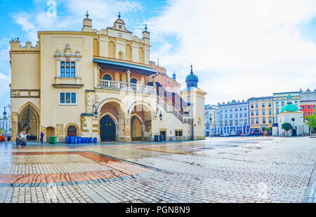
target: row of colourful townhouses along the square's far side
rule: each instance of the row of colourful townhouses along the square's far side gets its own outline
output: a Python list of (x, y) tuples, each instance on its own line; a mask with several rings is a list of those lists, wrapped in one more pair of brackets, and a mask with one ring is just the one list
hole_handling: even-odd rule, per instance
[(277, 92), (269, 97), (251, 97), (225, 104), (205, 105), (205, 135), (233, 135), (263, 132), (278, 122), (277, 114), (287, 106), (287, 98), (303, 112), (303, 118), (315, 114), (316, 89), (298, 92)]

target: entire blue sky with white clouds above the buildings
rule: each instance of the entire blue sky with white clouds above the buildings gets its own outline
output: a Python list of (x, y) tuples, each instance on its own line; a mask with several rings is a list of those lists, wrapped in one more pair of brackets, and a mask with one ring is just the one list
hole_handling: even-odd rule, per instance
[[(37, 31), (112, 27), (117, 14), (150, 59), (185, 88), (193, 65), (206, 104), (316, 89), (316, 0), (0, 0), (0, 116), (10, 102), (10, 43), (36, 45)], [(56, 10), (54, 10), (56, 8)], [(27, 81), (32, 82), (32, 81)], [(8, 111), (8, 110), (7, 110)]]

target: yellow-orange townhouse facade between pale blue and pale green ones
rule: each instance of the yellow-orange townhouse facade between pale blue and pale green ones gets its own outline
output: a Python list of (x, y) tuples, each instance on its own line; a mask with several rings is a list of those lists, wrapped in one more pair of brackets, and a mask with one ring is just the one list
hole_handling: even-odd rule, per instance
[(248, 102), (250, 131), (262, 133), (265, 128), (271, 128), (273, 124), (273, 97), (251, 97)]

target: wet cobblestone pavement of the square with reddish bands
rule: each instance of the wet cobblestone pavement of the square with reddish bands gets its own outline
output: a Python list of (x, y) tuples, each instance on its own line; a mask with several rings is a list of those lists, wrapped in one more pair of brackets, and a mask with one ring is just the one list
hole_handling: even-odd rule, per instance
[(0, 144), (0, 202), (315, 202), (316, 139)]

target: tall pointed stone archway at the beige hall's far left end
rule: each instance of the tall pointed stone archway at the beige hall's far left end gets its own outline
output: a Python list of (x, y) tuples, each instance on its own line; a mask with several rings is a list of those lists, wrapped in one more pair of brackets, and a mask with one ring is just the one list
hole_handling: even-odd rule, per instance
[(17, 128), (17, 132), (23, 130), (29, 136), (28, 139), (39, 141), (39, 112), (33, 104), (27, 103), (21, 107)]

